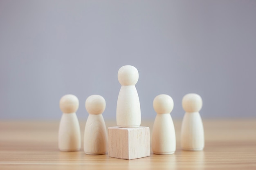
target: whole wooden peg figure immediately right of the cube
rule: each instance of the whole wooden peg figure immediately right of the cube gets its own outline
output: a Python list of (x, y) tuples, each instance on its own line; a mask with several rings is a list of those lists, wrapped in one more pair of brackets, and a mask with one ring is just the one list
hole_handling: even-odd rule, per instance
[(173, 99), (169, 95), (158, 95), (153, 101), (157, 116), (153, 125), (152, 150), (154, 154), (169, 155), (176, 150), (176, 137), (171, 111)]

